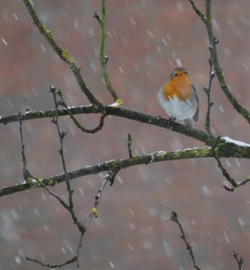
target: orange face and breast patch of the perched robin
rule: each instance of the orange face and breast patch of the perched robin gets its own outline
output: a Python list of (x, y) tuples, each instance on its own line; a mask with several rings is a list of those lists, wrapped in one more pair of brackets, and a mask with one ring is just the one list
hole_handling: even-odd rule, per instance
[(165, 100), (171, 100), (174, 96), (180, 100), (187, 100), (191, 94), (191, 83), (189, 78), (185, 75), (173, 77), (164, 86), (164, 98)]

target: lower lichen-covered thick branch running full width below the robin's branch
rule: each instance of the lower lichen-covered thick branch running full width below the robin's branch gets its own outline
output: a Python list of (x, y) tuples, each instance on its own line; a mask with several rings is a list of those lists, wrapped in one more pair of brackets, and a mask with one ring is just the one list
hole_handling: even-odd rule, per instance
[[(94, 166), (86, 166), (78, 170), (68, 172), (67, 175), (70, 180), (85, 176), (95, 175), (101, 172), (110, 171), (112, 167), (128, 168), (129, 166), (138, 166), (141, 164), (155, 163), (160, 161), (168, 160), (179, 160), (189, 158), (201, 158), (201, 157), (214, 157), (216, 153), (217, 157), (243, 157), (250, 158), (250, 145), (240, 146), (237, 143), (228, 142), (227, 139), (219, 139), (216, 148), (204, 147), (204, 148), (187, 148), (184, 150), (167, 152), (167, 151), (156, 151), (145, 156), (133, 156), (131, 158), (112, 159), (106, 162), (100, 163)], [(40, 178), (45, 185), (55, 185), (66, 181), (65, 175), (55, 175), (49, 178)], [(248, 183), (245, 181), (243, 184)], [(243, 185), (243, 184), (239, 184)], [(22, 192), (31, 188), (40, 187), (40, 184), (30, 186), (30, 184), (22, 183), (15, 184), (13, 186), (7, 186), (0, 189), (0, 196)]]

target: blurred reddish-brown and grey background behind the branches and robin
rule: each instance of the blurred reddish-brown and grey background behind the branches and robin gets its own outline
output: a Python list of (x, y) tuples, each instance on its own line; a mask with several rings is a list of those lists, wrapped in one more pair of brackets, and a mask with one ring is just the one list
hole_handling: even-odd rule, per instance
[[(196, 1), (204, 11), (204, 1)], [(43, 23), (63, 49), (75, 58), (86, 85), (103, 103), (112, 103), (103, 85), (98, 57), (100, 29), (94, 20), (101, 1), (33, 0)], [(167, 117), (157, 101), (158, 89), (172, 69), (182, 65), (198, 89), (201, 113), (195, 128), (204, 130), (209, 81), (208, 39), (201, 20), (187, 0), (107, 0), (109, 74), (124, 106)], [(228, 86), (249, 107), (250, 2), (212, 2), (219, 60)], [(40, 35), (22, 1), (0, 2), (0, 115), (53, 109), (49, 86), (64, 94), (68, 105), (87, 104), (70, 69)], [(249, 141), (247, 123), (232, 109), (216, 78), (212, 87), (213, 134)], [(96, 115), (78, 119), (88, 128)], [(60, 118), (65, 139), (67, 170), (128, 157), (127, 135), (137, 155), (156, 150), (201, 147), (194, 139), (136, 121), (109, 117), (103, 130), (89, 135)], [(50, 119), (23, 122), (28, 166), (32, 175), (62, 173), (58, 136)], [(0, 126), (1, 186), (22, 179), (17, 123)], [(232, 177), (243, 180), (249, 163), (223, 160)], [(85, 221), (102, 175), (72, 182), (76, 212)], [(230, 256), (236, 250), (249, 268), (250, 185), (228, 193), (214, 159), (193, 159), (134, 166), (119, 173), (107, 186), (99, 209), (84, 238), (80, 269), (191, 269), (192, 261), (179, 238), (170, 213), (176, 210), (202, 270), (237, 269)], [(66, 195), (65, 184), (53, 192)], [(15, 193), (0, 200), (0, 269), (41, 269), (25, 256), (60, 263), (76, 251), (78, 233), (67, 212), (43, 190)], [(64, 269), (75, 269), (65, 266)]]

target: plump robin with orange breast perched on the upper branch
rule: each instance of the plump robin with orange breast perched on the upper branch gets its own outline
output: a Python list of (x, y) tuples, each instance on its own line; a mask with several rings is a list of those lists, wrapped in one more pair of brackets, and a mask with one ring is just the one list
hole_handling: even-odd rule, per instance
[(160, 89), (159, 102), (170, 116), (170, 121), (182, 120), (188, 129), (192, 128), (192, 120), (198, 121), (198, 95), (183, 67), (174, 68), (170, 80)]

